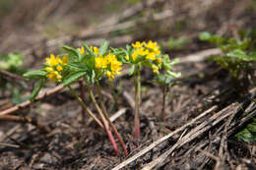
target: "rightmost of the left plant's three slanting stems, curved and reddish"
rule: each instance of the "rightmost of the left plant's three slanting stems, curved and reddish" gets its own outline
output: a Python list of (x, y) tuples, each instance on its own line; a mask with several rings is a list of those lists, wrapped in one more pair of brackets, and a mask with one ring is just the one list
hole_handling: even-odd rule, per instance
[(105, 106), (103, 105), (103, 102), (102, 102), (102, 96), (101, 96), (101, 92), (100, 92), (100, 86), (98, 84), (98, 82), (96, 82), (96, 91), (97, 91), (97, 94), (98, 94), (98, 99), (99, 99), (99, 104), (100, 104), (100, 107), (102, 108), (103, 110), (103, 114), (106, 118), (106, 120), (108, 121), (108, 123), (110, 124), (111, 128), (113, 129), (117, 139), (119, 140), (119, 142), (121, 143), (122, 147), (123, 147), (123, 151), (124, 151), (124, 154), (125, 156), (128, 155), (128, 151), (127, 151), (127, 148), (126, 148), (126, 145), (125, 143), (123, 142), (123, 139), (122, 137), (119, 135), (117, 129), (115, 128), (114, 124), (111, 122), (111, 120), (109, 119), (109, 116), (107, 114), (107, 111), (105, 109)]

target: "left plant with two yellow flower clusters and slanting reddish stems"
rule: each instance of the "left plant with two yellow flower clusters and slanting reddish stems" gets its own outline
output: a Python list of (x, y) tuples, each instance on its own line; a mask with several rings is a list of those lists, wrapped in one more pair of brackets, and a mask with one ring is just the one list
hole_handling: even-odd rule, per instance
[[(99, 104), (96, 102), (91, 86), (96, 85), (97, 93), (100, 96), (99, 80), (103, 76), (106, 76), (109, 81), (114, 79), (115, 75), (119, 74), (119, 71), (122, 69), (122, 63), (118, 61), (116, 55), (110, 53), (108, 50), (108, 43), (106, 41), (103, 41), (99, 48), (94, 46), (89, 47), (86, 43), (83, 43), (83, 46), (78, 49), (71, 46), (64, 46), (63, 48), (68, 53), (61, 54), (60, 56), (54, 56), (51, 54), (49, 58), (46, 58), (43, 69), (31, 71), (24, 75), (28, 79), (40, 79), (40, 82), (32, 91), (32, 100), (47, 80), (52, 83), (67, 86), (73, 95), (76, 96), (77, 100), (81, 103), (87, 113), (94, 118), (99, 127), (106, 132), (116, 154), (119, 154), (119, 149), (113, 138), (110, 127), (121, 142), (125, 155), (127, 155), (128, 153), (125, 143), (110, 121), (108, 114), (103, 107), (101, 97), (99, 97)], [(76, 90), (71, 87), (71, 84), (76, 83), (81, 79), (84, 80), (88, 88), (100, 119), (98, 119), (91, 109), (83, 102)]]

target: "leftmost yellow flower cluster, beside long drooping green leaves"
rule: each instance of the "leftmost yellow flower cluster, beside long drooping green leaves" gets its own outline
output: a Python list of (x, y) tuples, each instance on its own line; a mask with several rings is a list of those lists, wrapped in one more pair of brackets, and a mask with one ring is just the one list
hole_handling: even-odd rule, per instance
[(59, 56), (54, 56), (54, 54), (51, 54), (50, 57), (46, 58), (46, 67), (45, 71), (48, 72), (48, 75), (46, 76), (50, 82), (56, 82), (56, 80), (61, 80), (61, 71), (63, 70), (63, 66), (68, 64), (69, 58), (68, 56), (64, 56), (62, 60)]

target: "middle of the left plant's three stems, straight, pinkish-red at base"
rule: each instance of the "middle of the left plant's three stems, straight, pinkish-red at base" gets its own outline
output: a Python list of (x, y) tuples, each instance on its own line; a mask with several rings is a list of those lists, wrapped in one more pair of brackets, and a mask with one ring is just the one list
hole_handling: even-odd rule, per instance
[(90, 96), (91, 96), (91, 98), (93, 100), (93, 103), (94, 103), (94, 105), (96, 107), (96, 111), (98, 112), (98, 114), (99, 114), (99, 116), (100, 116), (100, 118), (101, 118), (101, 120), (103, 122), (104, 129), (105, 129), (105, 132), (106, 132), (106, 134), (108, 136), (108, 139), (112, 143), (115, 153), (117, 155), (119, 155), (120, 151), (119, 151), (119, 149), (117, 147), (117, 144), (116, 144), (116, 142), (114, 140), (113, 134), (112, 134), (112, 132), (109, 129), (108, 122), (106, 121), (106, 118), (104, 117), (104, 115), (103, 115), (101, 109), (99, 108), (98, 104), (96, 103), (96, 98), (95, 98), (95, 95), (93, 93), (93, 90), (91, 89), (91, 86), (88, 85), (88, 84), (87, 84), (87, 87), (88, 87), (89, 94), (90, 94)]

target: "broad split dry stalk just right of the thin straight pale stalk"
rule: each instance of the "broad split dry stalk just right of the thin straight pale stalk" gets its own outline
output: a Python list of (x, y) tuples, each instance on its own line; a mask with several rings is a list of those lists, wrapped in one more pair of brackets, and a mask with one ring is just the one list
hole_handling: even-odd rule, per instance
[[(183, 137), (180, 140), (180, 142), (176, 142), (170, 149), (168, 149), (167, 151), (162, 153), (159, 158), (153, 160), (152, 162), (150, 162), (149, 164), (144, 166), (144, 168), (142, 170), (151, 170), (151, 169), (155, 168), (156, 166), (157, 166), (157, 168), (159, 168), (160, 164), (166, 159), (166, 157), (175, 148), (178, 148), (178, 147), (184, 145), (187, 142), (191, 142), (192, 140), (196, 139), (198, 136), (202, 135), (203, 133), (205, 133), (209, 129), (213, 128), (218, 123), (220, 123), (227, 116), (231, 115), (232, 112), (228, 112), (228, 111), (230, 111), (230, 110), (234, 111), (236, 108), (234, 109), (233, 106), (234, 106), (234, 104), (231, 104), (231, 105), (225, 107), (223, 110), (219, 111), (217, 114), (212, 116), (209, 120), (207, 120), (207, 121), (203, 122), (202, 124), (200, 124), (200, 126), (196, 127), (189, 134), (187, 134), (185, 137)], [(227, 113), (225, 113), (225, 112), (227, 112)], [(216, 121), (214, 121), (214, 120), (216, 120)]]

